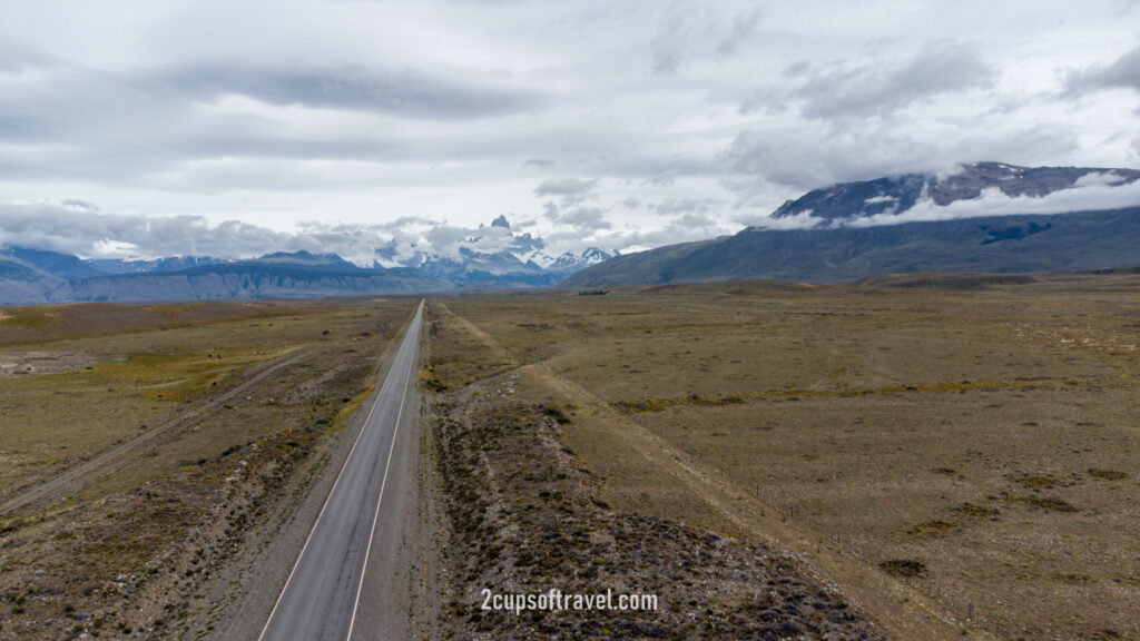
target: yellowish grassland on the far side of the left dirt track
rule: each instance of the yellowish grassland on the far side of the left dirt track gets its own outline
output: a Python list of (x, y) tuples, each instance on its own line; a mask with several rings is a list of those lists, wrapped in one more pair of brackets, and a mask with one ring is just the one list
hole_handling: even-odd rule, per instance
[[(0, 347), (0, 362), (11, 366), (0, 370), (0, 498), (170, 420), (258, 365), (334, 336), (359, 338), (376, 317), (364, 306), (315, 302), (55, 306), (6, 315), (0, 346), (9, 347)], [(185, 459), (215, 455), (228, 440), (196, 444)]]

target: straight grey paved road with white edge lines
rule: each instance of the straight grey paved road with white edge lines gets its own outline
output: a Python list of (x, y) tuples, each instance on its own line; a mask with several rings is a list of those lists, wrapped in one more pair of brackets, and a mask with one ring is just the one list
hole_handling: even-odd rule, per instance
[[(418, 420), (415, 372), (422, 317), (421, 301), (388, 379), (261, 631), (261, 641), (345, 641), (383, 635), (372, 626), (361, 628), (359, 609), (363, 602), (375, 603), (382, 598), (361, 594), (369, 562), (383, 566), (370, 557), (399, 544), (401, 528), (392, 521), (399, 520), (400, 511), (389, 505), (410, 485), (404, 470), (414, 469), (402, 455), (407, 449), (404, 444), (416, 439), (398, 437), (400, 432), (409, 435)], [(369, 578), (369, 586), (375, 583)]]

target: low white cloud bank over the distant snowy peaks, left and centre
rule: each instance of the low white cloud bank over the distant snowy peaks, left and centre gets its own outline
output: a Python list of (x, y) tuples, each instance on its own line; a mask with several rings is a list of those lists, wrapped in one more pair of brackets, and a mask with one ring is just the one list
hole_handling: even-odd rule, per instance
[(302, 221), (295, 230), (203, 216), (153, 216), (100, 211), (93, 203), (0, 203), (0, 248), (24, 246), (91, 259), (149, 260), (163, 257), (251, 259), (272, 252), (335, 253), (361, 267), (417, 266), (426, 259), (459, 259), (462, 252), (508, 251), (546, 266), (564, 252), (589, 248), (626, 253), (730, 234), (741, 225), (718, 222), (712, 201), (645, 203), (658, 220), (650, 228), (616, 226), (612, 210), (585, 206), (596, 180), (543, 182), (547, 201), (540, 222), (507, 213), (494, 224), (455, 225), (404, 216), (382, 222)]

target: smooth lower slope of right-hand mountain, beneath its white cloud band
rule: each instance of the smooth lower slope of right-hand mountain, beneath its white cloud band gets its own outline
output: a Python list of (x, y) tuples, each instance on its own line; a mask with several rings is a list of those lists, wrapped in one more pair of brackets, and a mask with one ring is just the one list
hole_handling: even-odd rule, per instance
[(621, 255), (565, 287), (741, 278), (847, 282), (880, 274), (1025, 273), (1140, 265), (1140, 208), (828, 229), (746, 229)]

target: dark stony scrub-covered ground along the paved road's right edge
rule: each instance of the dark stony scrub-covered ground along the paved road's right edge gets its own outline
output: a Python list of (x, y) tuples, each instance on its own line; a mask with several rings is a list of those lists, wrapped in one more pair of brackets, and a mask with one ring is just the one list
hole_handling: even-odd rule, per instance
[[(446, 400), (445, 400), (446, 398)], [(437, 397), (437, 466), (461, 639), (882, 639), (795, 558), (651, 516), (614, 512), (560, 438), (555, 407), (483, 393)], [(482, 609), (486, 593), (653, 594), (656, 610)]]

